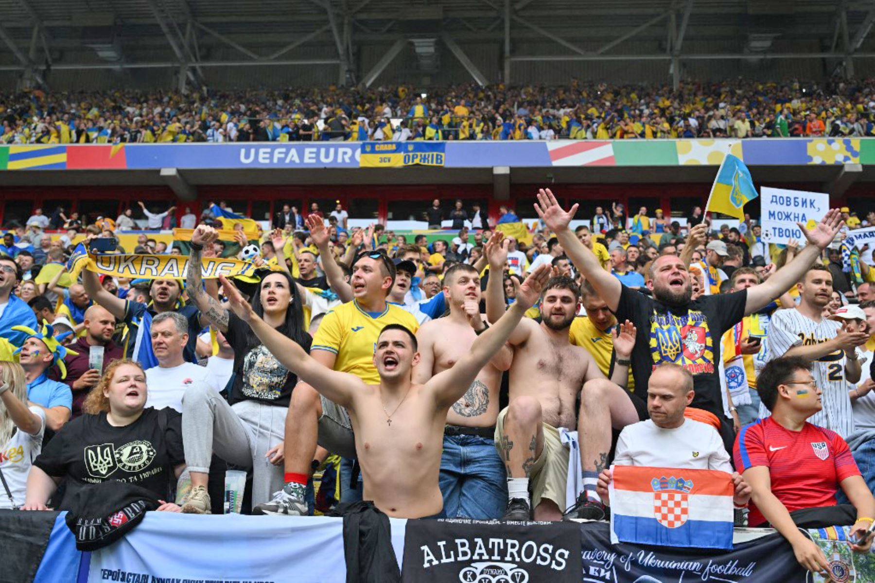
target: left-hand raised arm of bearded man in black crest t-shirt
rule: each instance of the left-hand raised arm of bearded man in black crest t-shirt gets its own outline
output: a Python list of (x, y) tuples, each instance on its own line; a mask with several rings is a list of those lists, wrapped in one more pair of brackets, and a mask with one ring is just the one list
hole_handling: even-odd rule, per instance
[(559, 244), (562, 245), (565, 254), (574, 263), (574, 267), (577, 267), (577, 271), (592, 284), (599, 297), (605, 298), (607, 307), (613, 312), (617, 311), (622, 291), (620, 280), (602, 269), (595, 254), (586, 248), (568, 228), (571, 219), (574, 219), (574, 215), (577, 213), (577, 205), (572, 206), (569, 212), (565, 212), (549, 189), (546, 191), (541, 189), (538, 191), (535, 211), (549, 229), (556, 233), (556, 239), (559, 239)]

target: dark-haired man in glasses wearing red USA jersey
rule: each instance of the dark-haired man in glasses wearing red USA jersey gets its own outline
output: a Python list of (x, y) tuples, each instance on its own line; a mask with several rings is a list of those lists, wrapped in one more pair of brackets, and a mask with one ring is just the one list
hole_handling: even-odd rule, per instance
[[(798, 527), (852, 525), (851, 549), (868, 552), (872, 538), (865, 533), (875, 517), (875, 500), (841, 435), (809, 422), (823, 410), (823, 391), (810, 366), (805, 357), (780, 357), (763, 367), (757, 389), (772, 414), (741, 429), (733, 456), (753, 489), (748, 524), (771, 524), (792, 545), (800, 565), (826, 573), (823, 551)], [(851, 504), (837, 505), (838, 489)]]

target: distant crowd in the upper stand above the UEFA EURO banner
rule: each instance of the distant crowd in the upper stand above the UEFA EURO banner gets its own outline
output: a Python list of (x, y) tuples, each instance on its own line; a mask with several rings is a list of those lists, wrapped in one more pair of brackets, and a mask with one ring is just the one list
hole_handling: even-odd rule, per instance
[(0, 92), (2, 143), (875, 135), (875, 80)]

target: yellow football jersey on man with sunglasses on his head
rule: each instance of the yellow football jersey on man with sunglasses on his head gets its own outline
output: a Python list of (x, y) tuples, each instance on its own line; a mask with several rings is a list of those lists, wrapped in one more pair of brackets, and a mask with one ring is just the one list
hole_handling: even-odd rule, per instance
[(416, 318), (398, 306), (386, 304), (379, 314), (371, 314), (353, 300), (329, 310), (313, 338), (311, 350), (328, 350), (337, 355), (334, 370), (350, 372), (368, 385), (379, 385), (374, 366), (374, 348), (381, 330), (388, 324), (401, 324), (416, 334)]

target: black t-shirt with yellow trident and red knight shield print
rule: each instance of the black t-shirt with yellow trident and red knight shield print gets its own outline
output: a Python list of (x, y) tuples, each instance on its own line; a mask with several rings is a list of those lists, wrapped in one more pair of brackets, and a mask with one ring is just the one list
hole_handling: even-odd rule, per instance
[(691, 406), (723, 418), (720, 395), (720, 345), (723, 334), (745, 316), (747, 291), (703, 295), (683, 309), (669, 308), (654, 298), (623, 286), (617, 320), (638, 329), (632, 350), (635, 392), (647, 390), (656, 364), (680, 364), (693, 374), (696, 396)]

